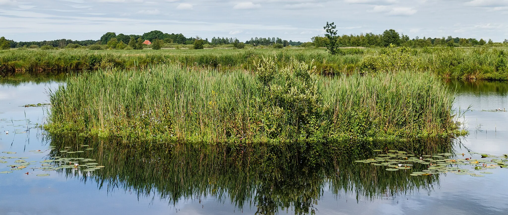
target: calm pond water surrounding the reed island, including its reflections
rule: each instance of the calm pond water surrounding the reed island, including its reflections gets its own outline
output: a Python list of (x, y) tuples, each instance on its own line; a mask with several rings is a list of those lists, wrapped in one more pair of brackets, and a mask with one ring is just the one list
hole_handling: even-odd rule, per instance
[[(471, 110), (464, 121), (471, 134), (450, 146), (405, 147), (427, 153), (456, 152), (479, 158), (468, 151), (493, 155), (508, 153), (508, 83), (451, 81), (457, 89), (456, 108)], [(28, 157), (40, 161), (53, 156), (88, 158), (100, 170), (86, 173), (73, 168), (58, 171), (15, 170), (0, 174), (2, 214), (506, 214), (508, 169), (489, 169), (485, 177), (441, 173), (410, 176), (389, 172), (354, 159), (372, 158), (370, 150), (348, 150), (325, 156), (316, 165), (301, 164), (291, 154), (279, 158), (262, 149), (181, 146), (145, 149), (115, 147), (96, 140), (50, 140), (38, 124), (45, 122), (47, 107), (21, 107), (48, 102), (47, 89), (57, 82), (0, 84), (0, 172)], [(485, 111), (483, 111), (485, 110)], [(490, 111), (489, 111), (490, 110)], [(80, 146), (89, 144), (90, 146)], [(364, 143), (358, 143), (364, 144)], [(54, 146), (55, 150), (47, 150)], [(71, 148), (65, 148), (71, 147)], [(84, 148), (93, 150), (83, 150)], [(359, 147), (365, 148), (365, 147)], [(75, 154), (59, 152), (83, 150)], [(399, 148), (400, 149), (400, 148)], [(41, 150), (42, 153), (34, 150)], [(245, 151), (244, 155), (241, 151)], [(256, 157), (258, 159), (249, 160)], [(263, 155), (263, 156), (259, 156)], [(362, 158), (363, 156), (363, 158)], [(460, 157), (460, 156), (459, 156)], [(305, 162), (303, 162), (305, 163)], [(415, 167), (416, 168), (416, 167)], [(28, 174), (24, 174), (28, 172)], [(37, 174), (50, 176), (39, 177)]]

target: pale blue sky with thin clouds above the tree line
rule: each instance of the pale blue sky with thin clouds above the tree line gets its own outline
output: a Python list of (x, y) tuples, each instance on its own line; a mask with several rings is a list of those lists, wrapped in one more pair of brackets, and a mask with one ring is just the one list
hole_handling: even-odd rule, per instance
[(0, 0), (0, 36), (14, 41), (99, 40), (106, 32), (150, 30), (200, 36), (279, 37), (307, 42), (324, 35), (508, 39), (508, 0)]

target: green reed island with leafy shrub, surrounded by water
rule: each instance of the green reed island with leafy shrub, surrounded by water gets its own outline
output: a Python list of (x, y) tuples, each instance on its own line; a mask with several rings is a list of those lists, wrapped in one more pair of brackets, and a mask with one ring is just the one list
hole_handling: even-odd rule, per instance
[(296, 59), (255, 72), (99, 70), (50, 92), (53, 134), (215, 143), (417, 139), (455, 129), (453, 93), (431, 73), (317, 75)]

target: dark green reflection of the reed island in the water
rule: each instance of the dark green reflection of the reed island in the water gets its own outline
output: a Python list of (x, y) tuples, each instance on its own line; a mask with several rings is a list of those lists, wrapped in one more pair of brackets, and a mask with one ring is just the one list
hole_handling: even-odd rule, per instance
[[(418, 190), (429, 190), (438, 176), (410, 176), (411, 171), (426, 169), (415, 165), (407, 171), (389, 172), (354, 160), (374, 157), (372, 149), (400, 149), (416, 155), (450, 152), (443, 142), (348, 142), (343, 149), (315, 149), (318, 163), (309, 164), (297, 144), (285, 147), (239, 146), (237, 148), (179, 144), (167, 150), (146, 145), (121, 147), (115, 142), (58, 139), (50, 157), (69, 157), (58, 152), (65, 146), (89, 144), (80, 157), (97, 160), (106, 166), (79, 176), (72, 169), (62, 169), (68, 177), (82, 177), (97, 182), (100, 189), (132, 191), (139, 197), (160, 198), (172, 204), (180, 200), (212, 197), (231, 202), (240, 210), (256, 206), (261, 214), (273, 214), (287, 208), (307, 214), (317, 207), (324, 192), (346, 193), (357, 199), (393, 198)], [(72, 148), (72, 150), (75, 150)], [(319, 208), (319, 207), (318, 207)]]

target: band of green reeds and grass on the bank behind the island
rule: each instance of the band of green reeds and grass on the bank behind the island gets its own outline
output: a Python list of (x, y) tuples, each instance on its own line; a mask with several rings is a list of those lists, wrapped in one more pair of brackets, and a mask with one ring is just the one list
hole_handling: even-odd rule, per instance
[(162, 50), (3, 50), (0, 72), (46, 73), (48, 71), (143, 69), (162, 64), (182, 68), (251, 71), (263, 56), (277, 56), (277, 66), (291, 58), (316, 66), (320, 74), (355, 72), (430, 71), (456, 79), (508, 80), (508, 50), (505, 48), (384, 48), (344, 49), (330, 55), (323, 48), (287, 49), (162, 49)]

